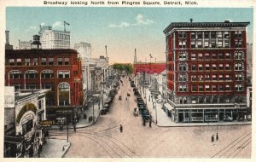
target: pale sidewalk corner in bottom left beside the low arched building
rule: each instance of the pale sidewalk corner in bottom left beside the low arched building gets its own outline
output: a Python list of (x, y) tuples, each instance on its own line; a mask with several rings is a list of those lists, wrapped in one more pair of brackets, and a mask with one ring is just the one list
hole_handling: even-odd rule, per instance
[[(43, 146), (40, 158), (62, 158), (70, 146), (71, 143), (67, 140), (47, 138), (47, 143)], [(34, 158), (38, 158), (38, 153)]]

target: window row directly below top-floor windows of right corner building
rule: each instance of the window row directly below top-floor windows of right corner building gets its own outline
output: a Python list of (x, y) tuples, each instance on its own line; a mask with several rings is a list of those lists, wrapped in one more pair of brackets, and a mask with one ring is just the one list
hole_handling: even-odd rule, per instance
[(218, 53), (218, 54), (191, 54), (191, 57), (189, 58), (189, 54), (186, 52), (181, 52), (178, 54), (178, 60), (179, 61), (186, 61), (186, 60), (191, 60), (191, 61), (197, 61), (197, 60), (227, 60), (227, 59), (235, 59), (235, 60), (241, 60), (245, 58), (245, 55), (243, 52), (235, 52), (234, 57), (230, 55), (230, 53)]

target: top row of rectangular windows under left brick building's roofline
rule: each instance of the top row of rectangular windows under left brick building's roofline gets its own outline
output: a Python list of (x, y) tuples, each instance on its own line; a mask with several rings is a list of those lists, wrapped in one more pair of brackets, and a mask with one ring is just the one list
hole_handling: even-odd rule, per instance
[[(24, 62), (24, 64), (22, 63)], [(25, 58), (23, 61), (21, 58), (16, 59), (16, 65), (15, 65), (15, 59), (9, 59), (9, 66), (38, 66), (38, 58)], [(57, 58), (57, 65), (69, 65), (69, 58)], [(41, 65), (55, 65), (54, 58), (41, 58)]]

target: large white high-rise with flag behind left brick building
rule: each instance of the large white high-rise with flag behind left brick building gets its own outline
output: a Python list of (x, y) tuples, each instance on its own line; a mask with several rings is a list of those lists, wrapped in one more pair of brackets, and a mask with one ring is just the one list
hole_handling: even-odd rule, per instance
[(42, 49), (70, 49), (70, 32), (52, 30), (51, 26), (40, 26)]

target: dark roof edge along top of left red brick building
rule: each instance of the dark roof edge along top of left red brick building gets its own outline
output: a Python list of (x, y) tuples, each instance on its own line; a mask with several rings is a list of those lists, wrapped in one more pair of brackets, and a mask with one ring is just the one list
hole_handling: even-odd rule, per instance
[(33, 54), (33, 55), (40, 55), (40, 54), (79, 54), (75, 49), (6, 49), (5, 55), (26, 55), (26, 54)]

